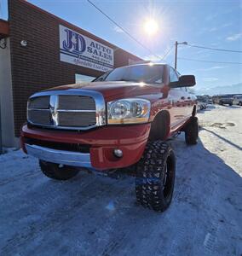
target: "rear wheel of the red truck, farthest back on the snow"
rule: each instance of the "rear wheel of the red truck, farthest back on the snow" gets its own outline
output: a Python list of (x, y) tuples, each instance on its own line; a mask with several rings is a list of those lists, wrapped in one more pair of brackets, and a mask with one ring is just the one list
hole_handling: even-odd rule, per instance
[(199, 139), (199, 119), (191, 117), (185, 129), (185, 140), (187, 145), (195, 145)]

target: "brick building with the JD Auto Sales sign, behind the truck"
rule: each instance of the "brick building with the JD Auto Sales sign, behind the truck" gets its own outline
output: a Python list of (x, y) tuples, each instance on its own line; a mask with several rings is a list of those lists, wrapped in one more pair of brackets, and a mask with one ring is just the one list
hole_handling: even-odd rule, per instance
[(16, 147), (26, 102), (39, 90), (94, 79), (141, 58), (24, 0), (9, 0), (0, 20), (3, 145)]

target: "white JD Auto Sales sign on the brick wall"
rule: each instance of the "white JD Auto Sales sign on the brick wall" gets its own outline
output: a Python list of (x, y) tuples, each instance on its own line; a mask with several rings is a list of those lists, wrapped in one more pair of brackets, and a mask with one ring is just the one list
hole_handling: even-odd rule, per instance
[(60, 61), (106, 72), (113, 58), (112, 48), (60, 25)]

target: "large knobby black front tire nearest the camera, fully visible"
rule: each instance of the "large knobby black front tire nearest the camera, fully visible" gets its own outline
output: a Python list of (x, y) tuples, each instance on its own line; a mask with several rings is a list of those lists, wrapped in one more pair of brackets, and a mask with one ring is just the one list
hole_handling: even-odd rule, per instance
[(143, 207), (164, 212), (173, 195), (176, 158), (169, 143), (155, 141), (147, 148), (136, 166), (136, 200)]

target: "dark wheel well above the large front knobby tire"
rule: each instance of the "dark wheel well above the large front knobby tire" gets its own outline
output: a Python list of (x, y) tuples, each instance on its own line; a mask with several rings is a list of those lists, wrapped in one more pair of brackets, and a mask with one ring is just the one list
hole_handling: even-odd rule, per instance
[(153, 119), (149, 141), (165, 140), (170, 133), (170, 113), (162, 110)]

